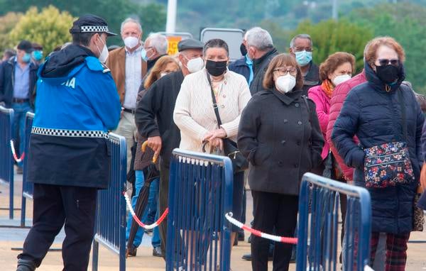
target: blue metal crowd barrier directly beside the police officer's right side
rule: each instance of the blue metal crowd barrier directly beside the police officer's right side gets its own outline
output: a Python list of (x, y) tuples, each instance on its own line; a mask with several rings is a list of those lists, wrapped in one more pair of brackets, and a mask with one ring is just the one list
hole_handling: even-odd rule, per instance
[(119, 270), (126, 270), (126, 139), (109, 133), (110, 187), (99, 190), (93, 242), (92, 270), (98, 270), (99, 243), (119, 255)]

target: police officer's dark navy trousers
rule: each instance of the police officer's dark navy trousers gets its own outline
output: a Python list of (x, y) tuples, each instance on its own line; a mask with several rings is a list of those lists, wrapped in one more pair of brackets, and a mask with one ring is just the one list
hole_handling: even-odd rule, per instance
[(19, 259), (40, 266), (65, 223), (62, 260), (65, 271), (85, 271), (94, 236), (97, 189), (34, 184), (33, 226)]

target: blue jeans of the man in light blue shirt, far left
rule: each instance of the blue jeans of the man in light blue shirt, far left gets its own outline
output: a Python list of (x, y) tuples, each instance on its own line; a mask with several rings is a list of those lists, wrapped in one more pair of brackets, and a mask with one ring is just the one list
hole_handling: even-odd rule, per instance
[[(14, 111), (13, 115), (13, 139), (15, 140), (15, 150), (18, 157), (21, 156), (23, 150), (25, 149), (25, 116), (28, 111), (32, 112), (30, 103), (27, 101), (22, 104), (13, 103), (12, 109)], [(16, 148), (16, 145), (19, 141), (19, 150)], [(19, 162), (18, 166), (22, 167), (23, 162)]]

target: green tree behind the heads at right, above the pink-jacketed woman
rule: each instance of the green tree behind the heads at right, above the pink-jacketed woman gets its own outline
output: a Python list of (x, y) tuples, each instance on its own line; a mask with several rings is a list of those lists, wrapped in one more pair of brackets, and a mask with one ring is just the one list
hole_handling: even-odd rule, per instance
[(373, 36), (370, 29), (347, 20), (327, 20), (317, 24), (303, 21), (293, 35), (307, 33), (312, 37), (314, 62), (321, 63), (334, 52), (350, 52), (356, 57), (356, 69), (362, 70), (364, 47)]

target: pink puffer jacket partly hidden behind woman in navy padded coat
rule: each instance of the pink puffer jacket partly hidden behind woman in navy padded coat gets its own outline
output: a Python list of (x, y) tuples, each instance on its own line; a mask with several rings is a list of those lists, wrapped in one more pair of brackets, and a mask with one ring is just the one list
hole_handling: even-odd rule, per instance
[[(329, 148), (330, 150), (332, 150), (332, 153), (334, 157), (336, 158), (336, 161), (339, 164), (339, 167), (342, 169), (344, 178), (348, 182), (352, 182), (353, 175), (354, 175), (354, 168), (346, 166), (343, 158), (340, 157), (339, 153), (337, 153), (337, 149), (334, 147), (332, 143), (333, 127), (334, 127), (334, 122), (336, 122), (337, 117), (340, 114), (340, 110), (342, 109), (344, 100), (346, 99), (346, 96), (348, 96), (351, 89), (366, 81), (367, 81), (366, 75), (363, 70), (360, 74), (356, 75), (355, 77), (349, 79), (346, 82), (343, 82), (342, 84), (337, 85), (337, 87), (333, 91), (332, 99), (330, 102), (329, 122), (327, 126), (327, 143), (329, 144)], [(356, 141), (356, 143), (359, 142), (358, 138), (354, 138), (354, 140)]]

